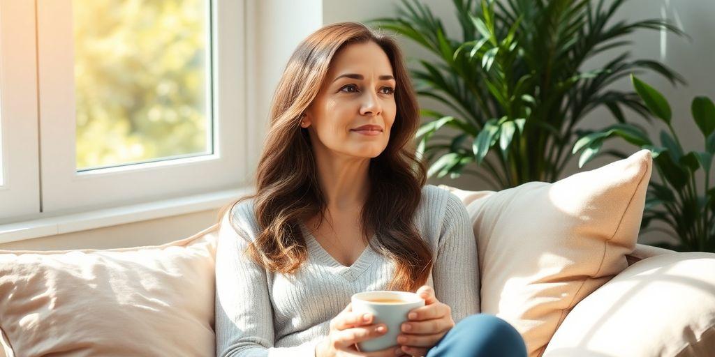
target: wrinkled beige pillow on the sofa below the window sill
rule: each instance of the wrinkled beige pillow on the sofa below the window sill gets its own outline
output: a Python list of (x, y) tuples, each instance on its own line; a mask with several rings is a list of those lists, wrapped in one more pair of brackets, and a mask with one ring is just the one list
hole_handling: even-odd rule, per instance
[(216, 228), (161, 246), (0, 251), (11, 352), (214, 356)]

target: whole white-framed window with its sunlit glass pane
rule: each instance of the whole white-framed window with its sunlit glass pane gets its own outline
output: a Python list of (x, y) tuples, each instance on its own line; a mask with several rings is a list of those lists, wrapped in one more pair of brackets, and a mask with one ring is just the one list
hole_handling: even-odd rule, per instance
[[(22, 83), (34, 99), (34, 109), (21, 109), (19, 94), (0, 94), (3, 114), (8, 104), (17, 109), (0, 117), (13, 133), (3, 139), (21, 127), (34, 140), (16, 144), (34, 147), (29, 154), (3, 141), (5, 191), (23, 191), (12, 184), (15, 170), (26, 171), (15, 183), (35, 181), (21, 198), (0, 196), (0, 223), (244, 185), (243, 6), (0, 0), (1, 44), (27, 47), (23, 60), (0, 52), (12, 61), (2, 74), (28, 74), (0, 76), (1, 89)], [(21, 201), (31, 209), (9, 210)]]

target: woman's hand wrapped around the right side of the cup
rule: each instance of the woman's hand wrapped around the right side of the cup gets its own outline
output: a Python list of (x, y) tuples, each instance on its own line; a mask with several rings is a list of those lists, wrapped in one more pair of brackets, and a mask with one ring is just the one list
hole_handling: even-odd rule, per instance
[(409, 321), (402, 324), (398, 343), (410, 356), (425, 356), (440, 339), (454, 326), (452, 308), (435, 298), (430, 286), (420, 286), (419, 296), (425, 299), (425, 306), (408, 313)]

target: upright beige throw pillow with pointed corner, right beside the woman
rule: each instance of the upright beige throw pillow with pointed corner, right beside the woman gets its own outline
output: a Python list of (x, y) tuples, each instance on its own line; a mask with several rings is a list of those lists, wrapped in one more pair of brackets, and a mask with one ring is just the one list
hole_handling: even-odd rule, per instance
[(643, 216), (651, 154), (556, 183), (462, 191), (478, 241), (481, 308), (540, 356), (568, 311), (626, 268)]

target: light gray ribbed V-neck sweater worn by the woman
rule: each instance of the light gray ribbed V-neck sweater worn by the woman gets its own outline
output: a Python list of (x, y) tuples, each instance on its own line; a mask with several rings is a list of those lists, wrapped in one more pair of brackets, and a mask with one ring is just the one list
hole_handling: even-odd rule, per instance
[[(229, 214), (232, 226), (225, 223)], [(478, 313), (477, 248), (459, 198), (425, 186), (414, 219), (435, 257), (427, 285), (452, 308), (455, 322)], [(307, 261), (295, 276), (270, 273), (240, 253), (260, 231), (252, 200), (236, 205), (223, 222), (216, 250), (216, 356), (315, 356), (350, 296), (385, 290), (395, 271), (370, 246), (352, 266), (342, 266), (301, 225)]]

